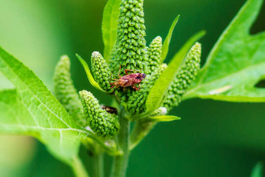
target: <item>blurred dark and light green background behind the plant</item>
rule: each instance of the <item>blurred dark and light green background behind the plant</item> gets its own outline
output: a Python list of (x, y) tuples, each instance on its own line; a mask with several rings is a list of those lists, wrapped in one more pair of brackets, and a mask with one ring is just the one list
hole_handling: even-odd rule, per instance
[[(72, 62), (78, 90), (93, 92), (78, 53), (89, 62), (93, 51), (103, 53), (101, 23), (107, 0), (0, 0), (0, 46), (23, 61), (49, 89), (61, 55)], [(206, 29), (201, 40), (203, 63), (221, 32), (245, 0), (145, 0), (147, 36), (165, 38), (174, 18), (167, 61), (195, 32)], [(251, 33), (265, 30), (265, 5)], [(0, 74), (0, 89), (12, 88)], [(260, 85), (260, 87), (265, 87)], [(249, 177), (265, 161), (265, 103), (228, 103), (192, 99), (172, 110), (182, 120), (159, 123), (132, 151), (128, 177)], [(83, 147), (80, 156), (88, 169), (91, 159)], [(106, 155), (106, 174), (111, 158)], [(73, 177), (70, 168), (54, 159), (29, 137), (0, 136), (0, 177)]]

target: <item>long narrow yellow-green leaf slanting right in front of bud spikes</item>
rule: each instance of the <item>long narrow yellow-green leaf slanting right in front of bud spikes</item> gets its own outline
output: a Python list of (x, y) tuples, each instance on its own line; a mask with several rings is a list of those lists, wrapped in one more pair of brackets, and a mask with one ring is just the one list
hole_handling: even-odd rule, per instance
[(188, 50), (192, 47), (192, 45), (199, 40), (205, 31), (198, 32), (194, 36), (192, 36), (184, 46), (179, 50), (179, 52), (173, 57), (170, 61), (166, 70), (159, 76), (156, 83), (150, 90), (146, 100), (146, 110), (147, 113), (152, 113), (156, 109), (159, 108), (159, 105), (164, 98), (164, 95), (167, 92), (168, 87), (172, 84), (174, 78), (178, 74), (181, 64), (185, 60), (185, 56)]

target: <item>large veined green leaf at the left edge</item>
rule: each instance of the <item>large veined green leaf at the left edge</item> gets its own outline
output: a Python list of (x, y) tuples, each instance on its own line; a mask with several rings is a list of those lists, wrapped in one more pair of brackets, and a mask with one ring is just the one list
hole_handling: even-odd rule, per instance
[(0, 92), (0, 132), (32, 135), (58, 159), (72, 164), (87, 131), (79, 129), (31, 70), (1, 48), (0, 71), (16, 87)]

